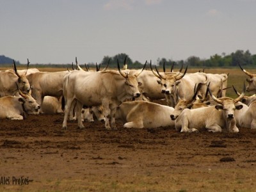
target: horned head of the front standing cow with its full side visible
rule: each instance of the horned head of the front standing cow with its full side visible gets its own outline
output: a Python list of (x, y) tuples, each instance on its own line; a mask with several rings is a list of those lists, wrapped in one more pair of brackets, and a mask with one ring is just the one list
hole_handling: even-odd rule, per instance
[[(126, 60), (126, 57), (125, 57)], [(138, 70), (135, 74), (131, 74), (129, 72), (123, 72), (120, 69), (119, 61), (117, 60), (118, 72), (121, 76), (125, 78), (125, 93), (130, 95), (131, 97), (140, 97), (140, 91), (138, 90), (138, 86), (141, 86), (141, 83), (136, 80), (136, 78), (143, 72), (144, 68), (147, 65), (147, 61), (141, 70)]]

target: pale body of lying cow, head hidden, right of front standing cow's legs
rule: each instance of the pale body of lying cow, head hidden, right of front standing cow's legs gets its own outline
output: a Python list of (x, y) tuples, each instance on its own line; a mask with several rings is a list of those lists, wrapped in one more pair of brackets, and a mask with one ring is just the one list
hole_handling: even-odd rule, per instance
[(124, 122), (125, 128), (156, 128), (171, 126), (173, 108), (144, 100), (123, 102), (116, 108), (116, 119)]

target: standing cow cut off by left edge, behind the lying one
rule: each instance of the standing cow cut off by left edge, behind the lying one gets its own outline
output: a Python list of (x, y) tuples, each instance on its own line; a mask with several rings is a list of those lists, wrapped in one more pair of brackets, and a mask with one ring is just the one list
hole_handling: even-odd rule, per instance
[(24, 93), (28, 93), (30, 90), (30, 84), (28, 79), (24, 74), (19, 74), (19, 72), (17, 72), (14, 60), (13, 68), (14, 72), (10, 70), (0, 71), (0, 97), (4, 97), (7, 95), (13, 96), (17, 92), (19, 92), (18, 88)]

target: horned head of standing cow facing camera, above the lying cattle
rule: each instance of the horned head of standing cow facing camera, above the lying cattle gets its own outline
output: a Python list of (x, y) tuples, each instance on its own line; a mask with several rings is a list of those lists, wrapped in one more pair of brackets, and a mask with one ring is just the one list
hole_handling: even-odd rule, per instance
[(177, 86), (179, 83), (180, 83), (180, 79), (182, 79), (182, 77), (185, 76), (186, 72), (187, 72), (187, 69), (188, 69), (188, 66), (186, 67), (186, 70), (184, 72), (184, 74), (180, 74), (182, 68), (183, 68), (183, 65), (182, 67), (180, 68), (179, 72), (177, 72), (176, 74), (164, 74), (161, 75), (156, 66), (156, 71), (154, 71), (152, 69), (152, 64), (151, 64), (151, 61), (150, 61), (150, 68), (153, 72), (153, 74), (159, 78), (160, 80), (157, 81), (157, 83), (161, 84), (161, 92), (162, 93), (166, 93), (167, 95), (171, 94), (171, 93), (174, 93), (175, 92), (175, 86)]

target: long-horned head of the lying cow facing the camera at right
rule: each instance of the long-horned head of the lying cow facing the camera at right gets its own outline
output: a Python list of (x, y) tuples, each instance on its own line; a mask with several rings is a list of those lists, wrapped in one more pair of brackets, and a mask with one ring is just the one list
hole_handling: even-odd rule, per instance
[[(236, 103), (239, 102), (239, 100), (243, 99), (245, 90), (246, 90), (246, 86), (244, 84), (243, 93), (241, 93), (239, 97), (237, 97), (236, 99), (226, 99), (226, 100), (217, 99), (216, 97), (214, 97), (214, 95), (212, 95), (211, 91), (209, 90), (209, 93), (212, 99), (218, 103), (218, 105), (215, 106), (215, 109), (223, 111), (223, 118), (225, 118), (228, 124), (231, 123), (236, 125), (236, 120), (234, 118), (234, 110), (236, 109), (239, 110), (243, 108), (243, 105), (237, 105)], [(229, 129), (231, 129), (231, 130), (228, 130), (230, 132), (238, 132), (238, 129), (236, 126), (232, 126), (231, 128), (229, 127)]]

